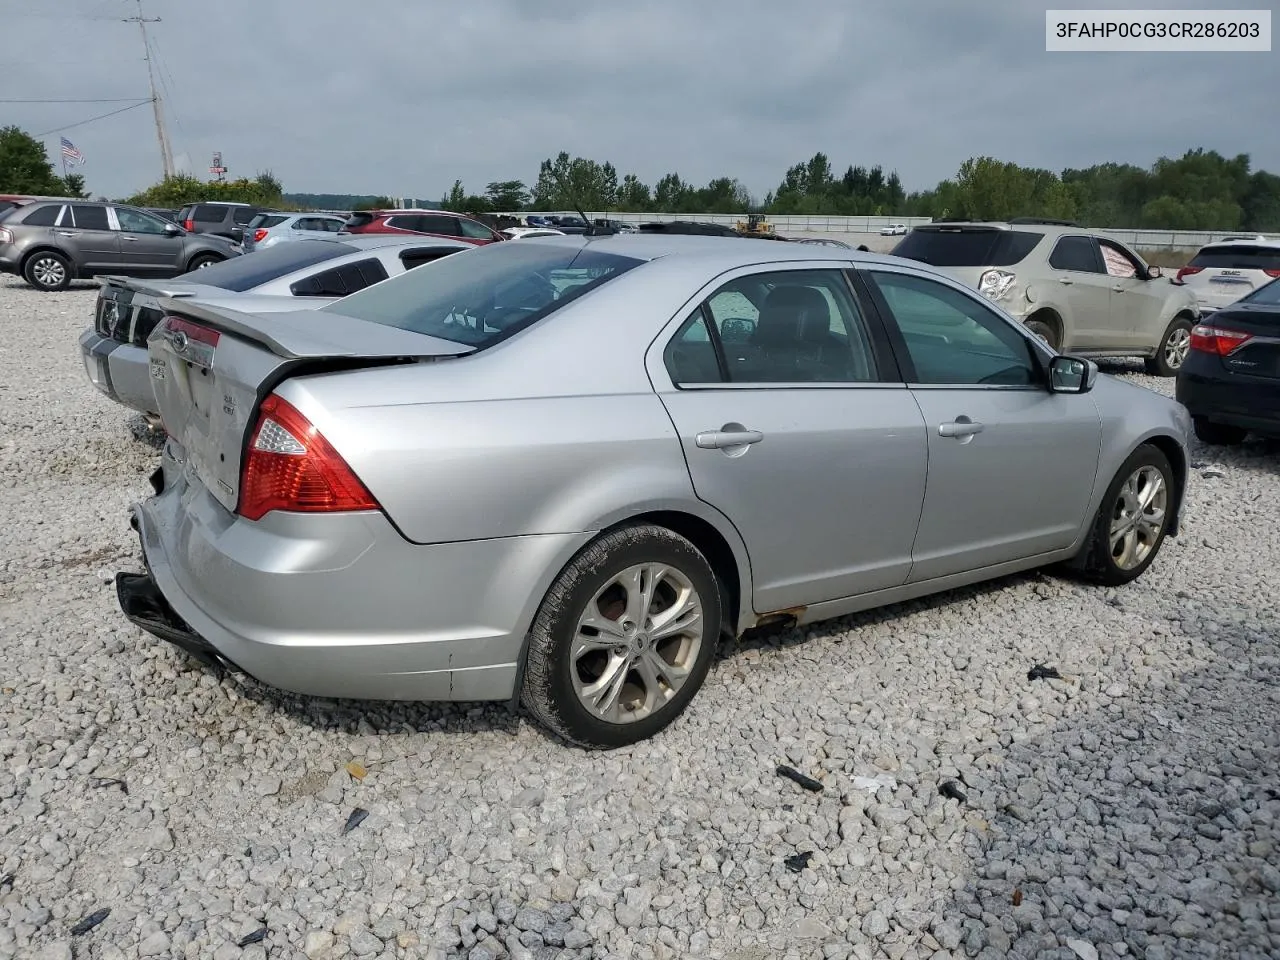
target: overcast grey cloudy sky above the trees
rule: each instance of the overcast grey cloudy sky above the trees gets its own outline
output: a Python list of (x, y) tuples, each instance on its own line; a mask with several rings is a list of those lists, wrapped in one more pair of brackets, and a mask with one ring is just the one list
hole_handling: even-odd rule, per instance
[[(1270, 0), (1268, 0), (1270, 1)], [(1088, 8), (1132, 8), (1093, 0)], [(1161, 0), (1162, 9), (1222, 8)], [(1059, 0), (1055, 8), (1069, 8)], [(1267, 4), (1253, 4), (1266, 8)], [(817, 151), (911, 189), (970, 156), (1149, 166), (1203, 146), (1280, 173), (1280, 52), (1044, 51), (1027, 0), (143, 0), (179, 166), (288, 192), (438, 198), (559, 151), (756, 197)], [(147, 97), (137, 0), (0, 0), (0, 100)], [(150, 105), (0, 102), (72, 140), (95, 196), (160, 179)]]

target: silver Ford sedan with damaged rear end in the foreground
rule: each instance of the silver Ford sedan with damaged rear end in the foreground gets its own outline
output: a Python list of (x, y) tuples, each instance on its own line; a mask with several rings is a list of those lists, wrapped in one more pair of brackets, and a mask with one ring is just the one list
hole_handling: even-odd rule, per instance
[(1175, 535), (1189, 422), (918, 264), (682, 236), (445, 257), (317, 311), (168, 300), (124, 613), (302, 694), (613, 748), (723, 635)]

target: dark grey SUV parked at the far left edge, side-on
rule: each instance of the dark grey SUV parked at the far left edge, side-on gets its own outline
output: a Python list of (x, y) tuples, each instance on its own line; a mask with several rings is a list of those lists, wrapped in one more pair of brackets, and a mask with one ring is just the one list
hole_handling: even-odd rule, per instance
[(177, 276), (239, 255), (229, 239), (193, 236), (120, 204), (42, 201), (0, 219), (0, 273), (40, 291), (108, 273)]

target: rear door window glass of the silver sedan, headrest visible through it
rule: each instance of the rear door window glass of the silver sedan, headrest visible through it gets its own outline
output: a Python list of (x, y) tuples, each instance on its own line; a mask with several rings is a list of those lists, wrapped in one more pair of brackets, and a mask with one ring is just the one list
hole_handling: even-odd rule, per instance
[[(716, 291), (707, 308), (732, 383), (877, 379), (863, 316), (838, 270), (741, 276)], [(696, 324), (685, 334), (696, 338)], [(684, 346), (696, 349), (692, 343)]]

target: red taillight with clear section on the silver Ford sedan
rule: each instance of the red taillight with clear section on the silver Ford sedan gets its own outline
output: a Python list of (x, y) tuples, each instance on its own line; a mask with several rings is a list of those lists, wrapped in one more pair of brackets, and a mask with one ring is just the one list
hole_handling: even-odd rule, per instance
[(273, 509), (339, 513), (378, 508), (374, 495), (311, 421), (274, 393), (262, 401), (244, 458), (237, 513), (261, 520)]

